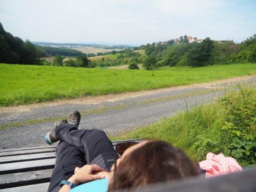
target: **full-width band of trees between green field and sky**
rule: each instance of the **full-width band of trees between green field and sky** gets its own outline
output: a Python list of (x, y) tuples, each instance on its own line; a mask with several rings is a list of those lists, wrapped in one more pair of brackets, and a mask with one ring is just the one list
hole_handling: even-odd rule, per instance
[[(135, 50), (145, 50), (142, 55)], [(107, 57), (100, 60), (90, 60), (87, 57), (115, 55), (115, 59)], [(53, 56), (54, 60), (42, 60)], [(63, 61), (64, 57), (76, 57)], [(27, 65), (54, 65), (71, 67), (109, 67), (129, 65), (130, 69), (138, 69), (142, 63), (146, 70), (161, 66), (207, 66), (214, 64), (231, 64), (243, 62), (256, 62), (256, 34), (242, 43), (233, 41), (217, 42), (209, 37), (201, 43), (189, 43), (188, 37), (180, 36), (178, 41), (173, 39), (166, 42), (148, 43), (133, 49), (111, 51), (107, 53), (84, 54), (80, 51), (60, 47), (38, 46), (6, 32), (0, 23), (0, 62), (20, 63)]]

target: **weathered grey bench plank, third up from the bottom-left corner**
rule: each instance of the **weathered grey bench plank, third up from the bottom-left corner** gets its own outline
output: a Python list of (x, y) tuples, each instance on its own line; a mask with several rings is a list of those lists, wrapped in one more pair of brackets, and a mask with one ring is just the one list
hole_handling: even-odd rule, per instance
[(0, 164), (0, 174), (10, 174), (25, 171), (52, 169), (55, 165), (55, 158), (36, 161)]

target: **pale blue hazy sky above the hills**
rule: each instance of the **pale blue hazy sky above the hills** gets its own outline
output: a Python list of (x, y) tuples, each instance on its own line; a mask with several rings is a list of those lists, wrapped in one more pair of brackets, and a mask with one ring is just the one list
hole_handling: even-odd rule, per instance
[(0, 0), (23, 40), (141, 45), (183, 35), (241, 42), (256, 34), (256, 0)]

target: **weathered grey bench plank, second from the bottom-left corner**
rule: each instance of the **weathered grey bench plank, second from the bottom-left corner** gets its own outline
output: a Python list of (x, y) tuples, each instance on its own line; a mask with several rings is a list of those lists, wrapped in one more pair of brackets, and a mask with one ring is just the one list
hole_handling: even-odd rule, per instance
[(0, 189), (50, 182), (53, 169), (0, 175)]

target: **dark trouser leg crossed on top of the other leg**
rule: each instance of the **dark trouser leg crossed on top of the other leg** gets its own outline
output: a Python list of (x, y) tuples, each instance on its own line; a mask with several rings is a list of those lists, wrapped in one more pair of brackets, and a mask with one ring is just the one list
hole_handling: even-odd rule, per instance
[(106, 133), (101, 130), (77, 130), (70, 124), (60, 124), (55, 128), (57, 137), (76, 147), (85, 155), (87, 164), (98, 164), (110, 171), (116, 158), (116, 152)]

